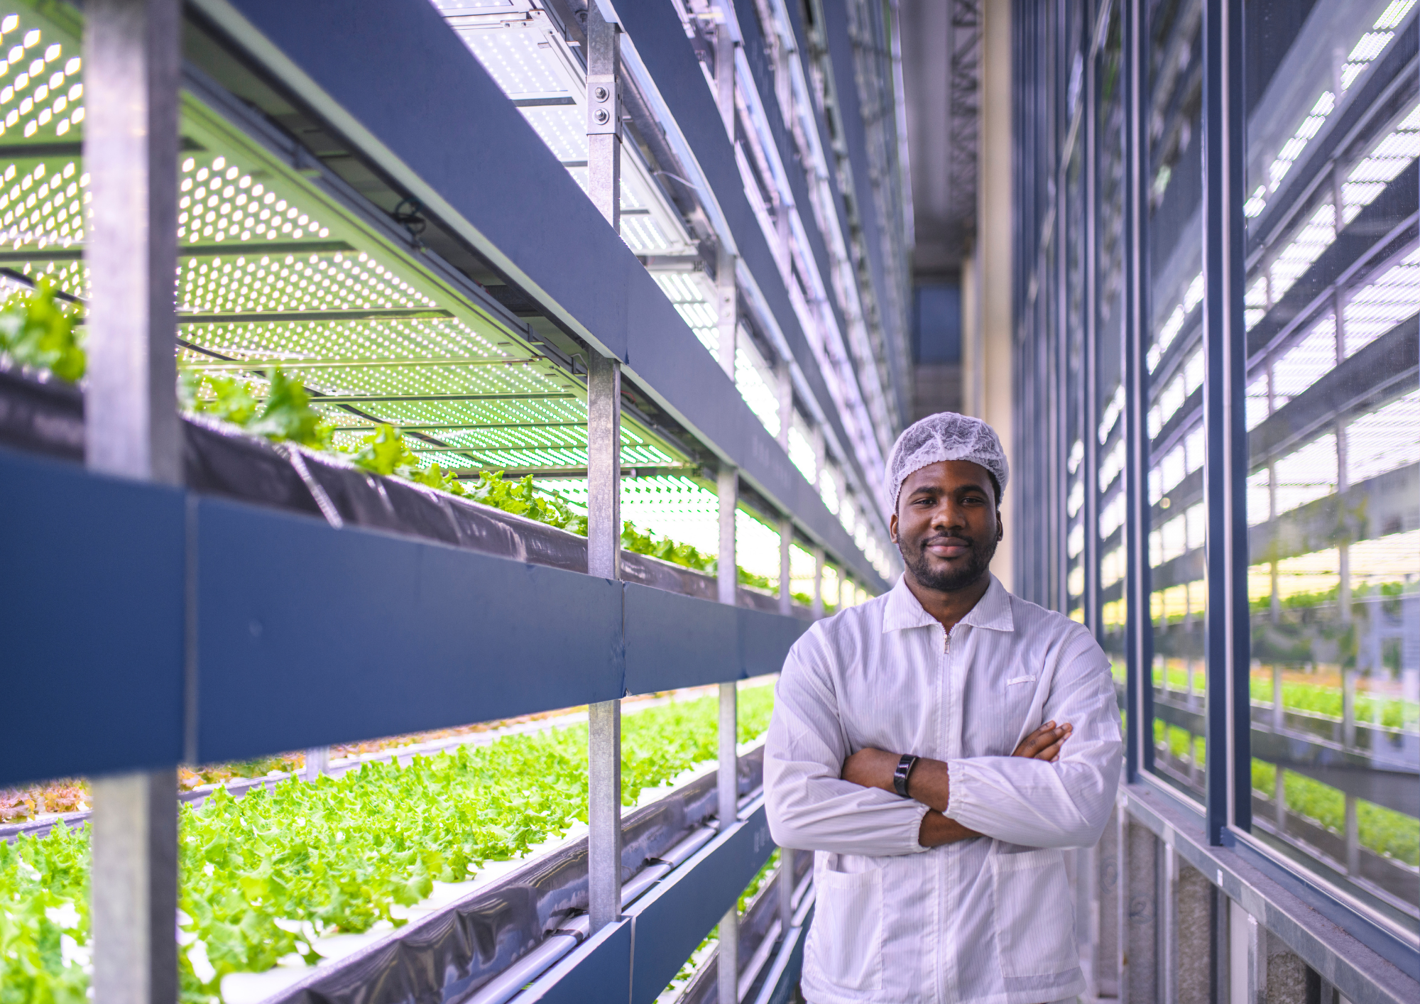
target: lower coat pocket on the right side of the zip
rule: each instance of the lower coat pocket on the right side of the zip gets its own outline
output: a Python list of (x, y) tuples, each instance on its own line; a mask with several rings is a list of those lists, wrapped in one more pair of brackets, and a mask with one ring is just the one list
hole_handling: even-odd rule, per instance
[(1054, 848), (995, 852), (991, 878), (1001, 974), (1052, 976), (1079, 966), (1065, 856)]

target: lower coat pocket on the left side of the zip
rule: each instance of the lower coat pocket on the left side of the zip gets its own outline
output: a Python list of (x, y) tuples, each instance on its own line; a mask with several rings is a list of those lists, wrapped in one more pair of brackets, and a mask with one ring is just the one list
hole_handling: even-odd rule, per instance
[(829, 983), (846, 990), (882, 990), (882, 869), (814, 876), (812, 961)]

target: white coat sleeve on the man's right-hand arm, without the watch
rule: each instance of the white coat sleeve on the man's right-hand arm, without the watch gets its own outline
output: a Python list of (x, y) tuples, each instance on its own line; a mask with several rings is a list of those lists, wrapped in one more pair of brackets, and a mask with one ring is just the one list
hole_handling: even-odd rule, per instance
[(1055, 763), (1025, 757), (949, 761), (946, 815), (1010, 844), (1093, 846), (1115, 802), (1123, 738), (1109, 659), (1083, 629), (1066, 639), (1051, 682), (1041, 720), (1052, 719), (1075, 727)]

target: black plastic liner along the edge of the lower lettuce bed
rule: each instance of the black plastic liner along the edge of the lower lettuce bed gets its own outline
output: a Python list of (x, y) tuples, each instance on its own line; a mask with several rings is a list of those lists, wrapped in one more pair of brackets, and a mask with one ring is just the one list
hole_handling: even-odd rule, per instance
[[(764, 748), (740, 757), (738, 790), (764, 784)], [(699, 829), (717, 809), (707, 774), (622, 821), (626, 882)], [(577, 913), (586, 910), (586, 838), (537, 858), (487, 888), (410, 922), (266, 1004), (433, 1004), (471, 995)]]

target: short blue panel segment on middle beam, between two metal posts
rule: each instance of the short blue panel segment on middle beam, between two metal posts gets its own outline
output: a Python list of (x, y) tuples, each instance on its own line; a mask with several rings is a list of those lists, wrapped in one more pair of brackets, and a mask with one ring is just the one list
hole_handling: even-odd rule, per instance
[(626, 693), (744, 679), (734, 606), (635, 582), (625, 588)]

